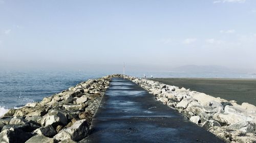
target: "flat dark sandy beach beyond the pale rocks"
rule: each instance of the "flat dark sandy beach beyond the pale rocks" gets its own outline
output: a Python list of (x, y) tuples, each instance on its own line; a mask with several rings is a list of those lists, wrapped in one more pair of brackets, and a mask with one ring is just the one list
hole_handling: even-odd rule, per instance
[(238, 104), (248, 102), (256, 105), (256, 79), (228, 78), (153, 78), (169, 85), (202, 92), (226, 100), (236, 100)]

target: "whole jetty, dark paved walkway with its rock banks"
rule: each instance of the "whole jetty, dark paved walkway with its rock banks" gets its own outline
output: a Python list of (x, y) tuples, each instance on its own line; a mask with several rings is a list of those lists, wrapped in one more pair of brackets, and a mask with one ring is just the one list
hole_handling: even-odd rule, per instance
[(0, 142), (256, 142), (256, 107), (122, 74), (0, 118)]

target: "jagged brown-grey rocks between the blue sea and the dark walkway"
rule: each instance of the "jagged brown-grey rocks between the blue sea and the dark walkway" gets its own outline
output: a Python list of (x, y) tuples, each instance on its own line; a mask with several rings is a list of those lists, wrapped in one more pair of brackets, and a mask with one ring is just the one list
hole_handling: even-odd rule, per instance
[(112, 76), (10, 109), (0, 118), (0, 142), (75, 142), (86, 137)]

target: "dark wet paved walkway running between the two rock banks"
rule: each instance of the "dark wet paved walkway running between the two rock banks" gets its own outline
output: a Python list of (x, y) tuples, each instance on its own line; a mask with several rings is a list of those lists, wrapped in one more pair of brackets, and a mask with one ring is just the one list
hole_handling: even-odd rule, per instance
[(156, 101), (130, 80), (113, 78), (80, 142), (224, 142)]

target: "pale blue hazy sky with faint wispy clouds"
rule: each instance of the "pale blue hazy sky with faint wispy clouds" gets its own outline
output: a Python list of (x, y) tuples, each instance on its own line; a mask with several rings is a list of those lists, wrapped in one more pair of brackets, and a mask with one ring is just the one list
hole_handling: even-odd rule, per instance
[(0, 0), (0, 69), (256, 71), (256, 1)]

